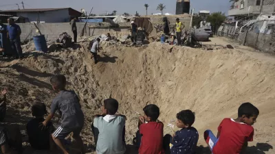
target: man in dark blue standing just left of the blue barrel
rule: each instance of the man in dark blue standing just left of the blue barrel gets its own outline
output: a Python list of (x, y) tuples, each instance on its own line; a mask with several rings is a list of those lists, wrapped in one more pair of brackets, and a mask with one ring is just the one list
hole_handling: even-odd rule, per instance
[(13, 18), (8, 18), (8, 27), (7, 27), (7, 37), (10, 39), (10, 44), (12, 45), (12, 49), (17, 51), (17, 58), (23, 57), (23, 52), (21, 48), (21, 28), (19, 25), (14, 23)]

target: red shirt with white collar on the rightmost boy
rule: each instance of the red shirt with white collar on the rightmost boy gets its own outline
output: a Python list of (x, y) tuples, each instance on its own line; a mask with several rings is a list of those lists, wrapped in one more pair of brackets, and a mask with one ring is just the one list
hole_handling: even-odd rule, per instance
[(245, 123), (236, 123), (225, 118), (218, 127), (219, 141), (214, 146), (214, 154), (239, 154), (245, 142), (253, 141), (254, 128)]

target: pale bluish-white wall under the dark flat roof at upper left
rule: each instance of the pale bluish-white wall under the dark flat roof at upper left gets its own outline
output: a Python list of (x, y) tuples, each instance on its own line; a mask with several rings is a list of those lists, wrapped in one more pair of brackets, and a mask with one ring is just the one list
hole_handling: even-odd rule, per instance
[[(39, 14), (39, 15), (38, 15)], [(29, 18), (30, 22), (37, 21), (39, 16), (41, 23), (63, 23), (69, 22), (69, 10), (54, 10), (47, 12), (17, 12), (17, 16)]]

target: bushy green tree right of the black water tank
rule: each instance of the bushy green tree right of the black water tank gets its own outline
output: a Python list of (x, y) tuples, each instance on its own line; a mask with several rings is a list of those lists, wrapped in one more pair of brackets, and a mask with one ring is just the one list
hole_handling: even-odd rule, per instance
[(206, 21), (211, 23), (212, 30), (214, 34), (216, 34), (217, 30), (219, 29), (223, 21), (225, 21), (225, 19), (226, 19), (225, 14), (221, 12), (214, 12), (207, 17)]

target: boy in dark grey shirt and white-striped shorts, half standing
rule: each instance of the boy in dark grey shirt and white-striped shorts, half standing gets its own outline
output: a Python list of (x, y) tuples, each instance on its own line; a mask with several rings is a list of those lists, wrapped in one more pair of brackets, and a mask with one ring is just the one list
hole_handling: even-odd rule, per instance
[(76, 140), (76, 144), (81, 149), (82, 153), (85, 153), (83, 140), (80, 137), (80, 131), (84, 125), (84, 114), (81, 110), (79, 98), (74, 91), (65, 89), (66, 78), (64, 75), (54, 75), (50, 79), (52, 88), (59, 92), (58, 96), (54, 98), (51, 105), (51, 112), (43, 121), (43, 127), (47, 127), (47, 124), (52, 118), (54, 118), (55, 112), (61, 112), (61, 126), (52, 133), (52, 138), (57, 146), (63, 151), (64, 154), (68, 154), (64, 148), (61, 140), (64, 140), (69, 133), (74, 133), (73, 138)]

